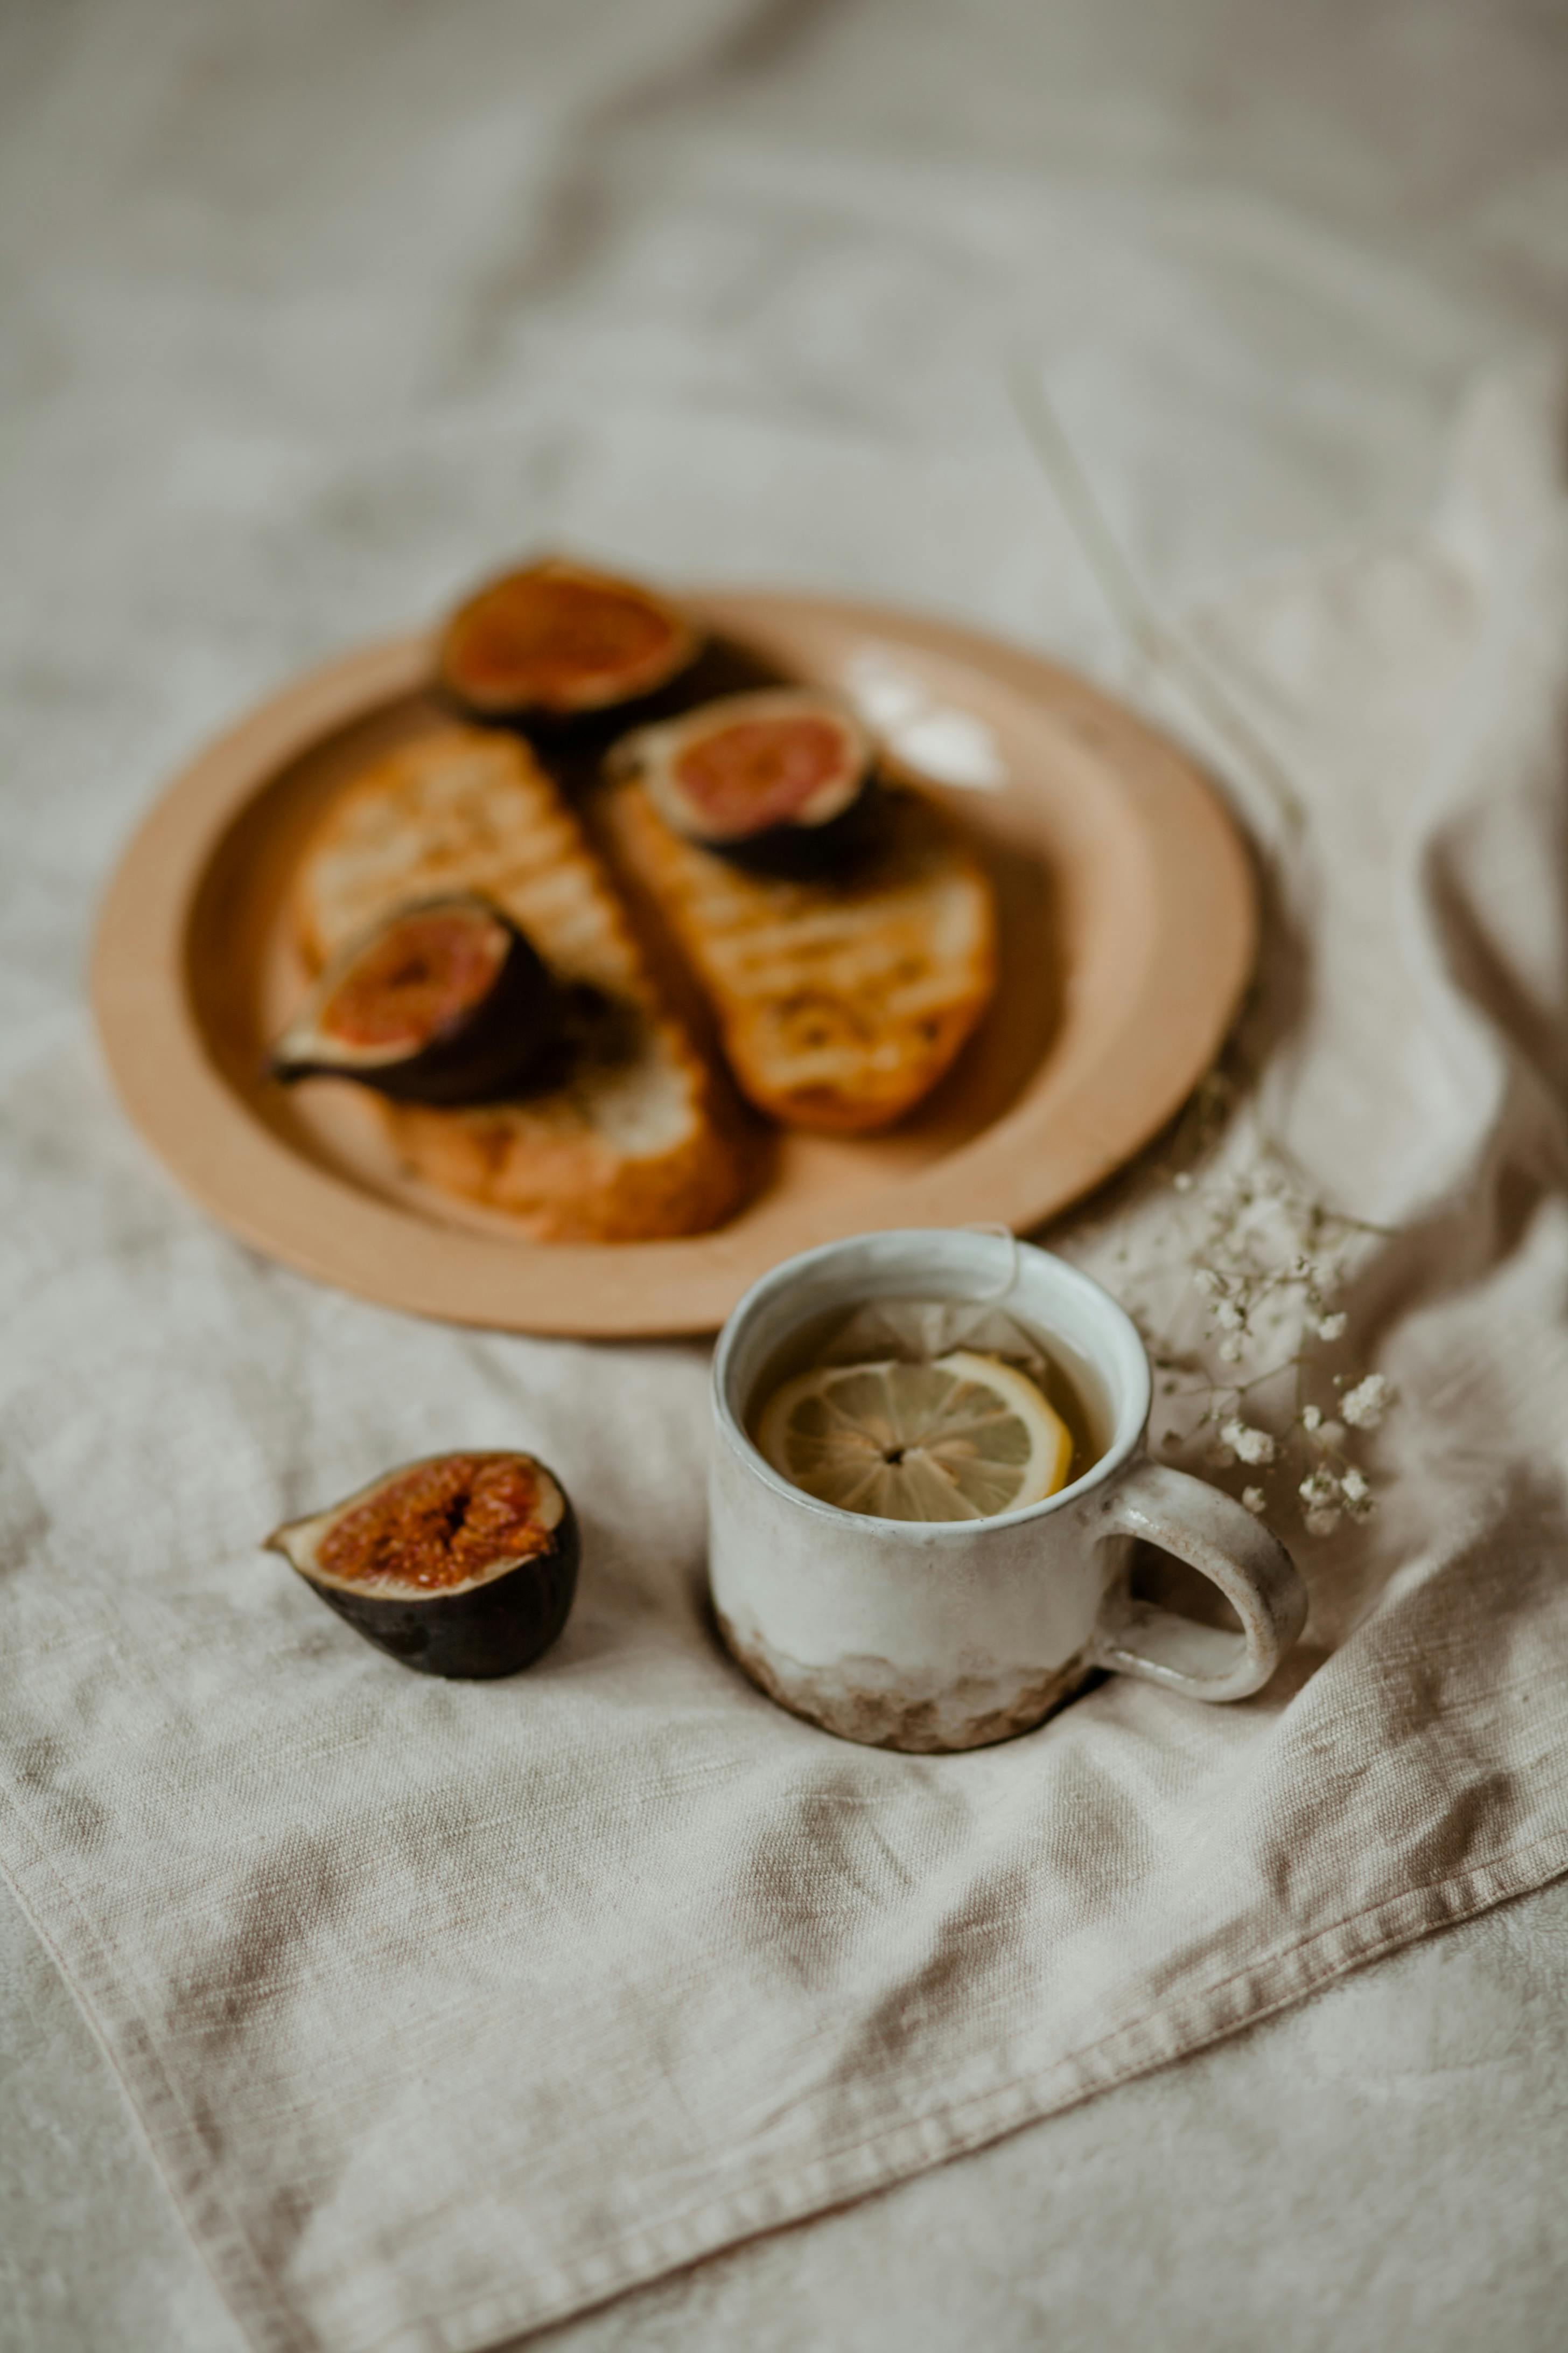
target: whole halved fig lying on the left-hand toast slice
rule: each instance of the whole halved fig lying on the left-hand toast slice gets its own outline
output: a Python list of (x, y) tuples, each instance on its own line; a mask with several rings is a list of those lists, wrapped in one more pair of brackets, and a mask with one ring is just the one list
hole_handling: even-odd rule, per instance
[(400, 1104), (494, 1104), (559, 1038), (517, 925), (470, 892), (418, 899), (336, 955), (273, 1049), (273, 1078), (353, 1078)]

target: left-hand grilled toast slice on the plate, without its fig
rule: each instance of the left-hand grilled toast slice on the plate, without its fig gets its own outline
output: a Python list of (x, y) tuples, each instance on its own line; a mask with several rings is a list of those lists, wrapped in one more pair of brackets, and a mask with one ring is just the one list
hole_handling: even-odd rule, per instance
[(569, 993), (559, 1078), (510, 1104), (383, 1104), (404, 1167), (536, 1240), (703, 1233), (736, 1209), (745, 1160), (715, 1075), (658, 998), (614, 885), (515, 736), (442, 727), (376, 760), (327, 809), (292, 915), (320, 969), (409, 899), (480, 892)]

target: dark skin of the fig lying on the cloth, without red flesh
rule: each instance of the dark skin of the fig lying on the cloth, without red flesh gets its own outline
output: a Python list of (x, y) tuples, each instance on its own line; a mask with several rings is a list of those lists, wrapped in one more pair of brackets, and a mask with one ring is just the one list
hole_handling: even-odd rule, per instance
[[(388, 1593), (353, 1584), (329, 1581), (313, 1567), (315, 1546), (346, 1513), (367, 1504), (381, 1487), (407, 1478), (425, 1461), (447, 1461), (430, 1454), (421, 1461), (400, 1464), (383, 1478), (371, 1480), (355, 1494), (343, 1497), (329, 1511), (308, 1520), (292, 1520), (273, 1529), (266, 1551), (282, 1553), (289, 1567), (310, 1586), (317, 1600), (336, 1609), (355, 1633), (383, 1649), (388, 1659), (414, 1668), (418, 1675), (442, 1675), (454, 1682), (494, 1682), (501, 1675), (517, 1675), (555, 1642), (571, 1612), (576, 1593), (583, 1541), (571, 1497), (555, 1473), (534, 1454), (512, 1459), (541, 1471), (550, 1489), (559, 1497), (562, 1513), (550, 1532), (550, 1544), (541, 1553), (529, 1553), (512, 1567), (487, 1574), (482, 1584), (465, 1584), (449, 1591), (404, 1588)], [(489, 1457), (498, 1459), (498, 1457)], [(501, 1457), (505, 1459), (505, 1457)]]

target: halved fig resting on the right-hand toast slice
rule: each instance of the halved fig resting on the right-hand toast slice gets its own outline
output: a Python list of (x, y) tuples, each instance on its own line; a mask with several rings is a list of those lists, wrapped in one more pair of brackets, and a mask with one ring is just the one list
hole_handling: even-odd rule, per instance
[(639, 727), (616, 744), (609, 767), (639, 776), (686, 840), (766, 873), (823, 873), (844, 859), (872, 791), (865, 729), (809, 687), (726, 694)]

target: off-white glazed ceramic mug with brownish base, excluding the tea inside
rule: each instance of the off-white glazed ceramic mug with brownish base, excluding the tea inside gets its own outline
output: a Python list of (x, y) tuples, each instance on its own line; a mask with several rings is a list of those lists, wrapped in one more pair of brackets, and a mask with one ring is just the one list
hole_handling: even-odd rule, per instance
[[(806, 1322), (870, 1299), (1004, 1306), (1086, 1367), (1105, 1449), (1060, 1494), (992, 1520), (877, 1520), (792, 1487), (748, 1438), (759, 1379)], [(769, 1699), (879, 1748), (1004, 1741), (1095, 1668), (1190, 1699), (1262, 1689), (1302, 1631), (1307, 1593), (1241, 1504), (1147, 1461), (1150, 1386), (1145, 1346), (1110, 1292), (1006, 1235), (867, 1233), (776, 1266), (724, 1325), (712, 1365), (708, 1565), (724, 1642)], [(1135, 1600), (1135, 1539), (1208, 1577), (1239, 1633)]]

